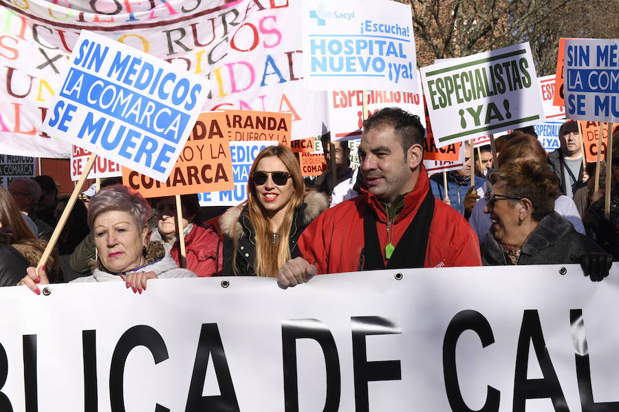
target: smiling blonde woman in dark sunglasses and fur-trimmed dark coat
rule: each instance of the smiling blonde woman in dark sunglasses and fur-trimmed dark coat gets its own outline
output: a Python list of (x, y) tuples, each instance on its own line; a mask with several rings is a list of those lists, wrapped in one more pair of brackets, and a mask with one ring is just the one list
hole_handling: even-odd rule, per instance
[(305, 194), (298, 161), (286, 146), (261, 150), (250, 169), (248, 201), (221, 216), (224, 275), (275, 277), (299, 255), (296, 241), (327, 208), (318, 192)]

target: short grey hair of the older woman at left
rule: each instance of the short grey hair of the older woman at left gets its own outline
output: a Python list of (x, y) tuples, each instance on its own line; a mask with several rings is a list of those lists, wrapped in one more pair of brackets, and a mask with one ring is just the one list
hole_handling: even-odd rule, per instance
[(105, 187), (90, 198), (88, 203), (88, 226), (92, 231), (94, 221), (105, 211), (128, 211), (138, 227), (146, 226), (151, 216), (151, 206), (140, 194), (123, 185)]

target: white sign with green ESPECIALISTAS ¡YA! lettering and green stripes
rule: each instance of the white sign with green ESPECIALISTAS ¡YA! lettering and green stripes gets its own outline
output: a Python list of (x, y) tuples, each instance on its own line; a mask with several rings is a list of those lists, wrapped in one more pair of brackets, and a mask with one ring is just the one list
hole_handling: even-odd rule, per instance
[(543, 122), (529, 43), (422, 67), (435, 144)]

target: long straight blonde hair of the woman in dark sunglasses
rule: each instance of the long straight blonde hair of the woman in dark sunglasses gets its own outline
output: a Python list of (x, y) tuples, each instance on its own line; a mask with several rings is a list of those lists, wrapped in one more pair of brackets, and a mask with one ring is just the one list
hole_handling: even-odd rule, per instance
[[(258, 196), (256, 186), (252, 178), (252, 173), (256, 170), (258, 163), (265, 157), (277, 157), (287, 168), (292, 176), (292, 187), (294, 193), (288, 205), (286, 206), (286, 215), (279, 229), (279, 234), (273, 244), (272, 233), (269, 229), (269, 220), (266, 216)], [(285, 170), (283, 170), (285, 172)], [(290, 259), (290, 245), (288, 238), (290, 237), (290, 227), (292, 226), (292, 217), (294, 209), (303, 203), (305, 196), (305, 183), (301, 175), (301, 168), (294, 157), (294, 153), (286, 146), (268, 146), (264, 148), (254, 160), (250, 169), (250, 176), (247, 182), (248, 193), (248, 218), (254, 227), (255, 242), (256, 242), (256, 258), (254, 260), (254, 270), (257, 276), (275, 277), (279, 268)], [(232, 262), (237, 261), (237, 225), (233, 225), (232, 238), (235, 240), (235, 247), (232, 254)], [(234, 265), (235, 275), (237, 274), (237, 266)]]

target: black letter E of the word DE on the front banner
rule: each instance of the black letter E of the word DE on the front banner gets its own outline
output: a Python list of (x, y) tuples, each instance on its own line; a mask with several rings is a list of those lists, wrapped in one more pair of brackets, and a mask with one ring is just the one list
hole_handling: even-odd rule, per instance
[(401, 334), (393, 321), (379, 316), (351, 317), (353, 367), (355, 376), (355, 410), (369, 411), (367, 382), (401, 380), (400, 361), (367, 361), (365, 336)]

